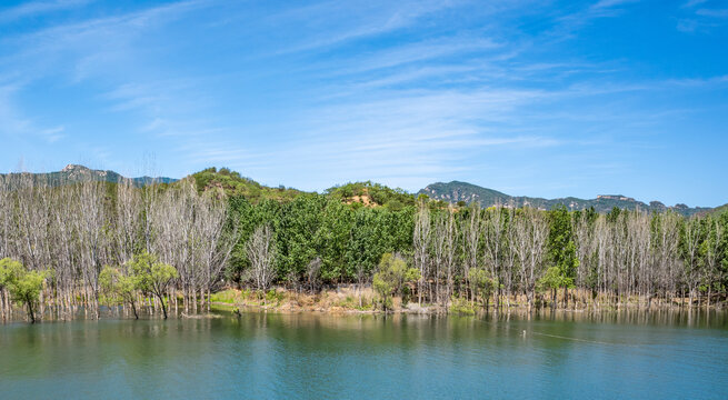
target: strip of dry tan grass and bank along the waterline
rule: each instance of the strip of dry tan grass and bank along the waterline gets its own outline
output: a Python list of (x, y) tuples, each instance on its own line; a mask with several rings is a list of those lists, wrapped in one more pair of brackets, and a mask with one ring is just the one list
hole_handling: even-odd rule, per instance
[[(646, 303), (637, 301), (627, 301), (620, 303), (586, 303), (582, 298), (577, 296), (577, 291), (568, 292), (570, 301), (569, 307), (562, 307), (562, 292), (559, 292), (557, 298), (558, 307), (551, 308), (549, 304), (540, 307), (529, 307), (526, 304), (525, 296), (510, 297), (509, 301), (501, 298), (499, 308), (493, 306), (493, 299), (489, 298), (489, 307), (485, 307), (482, 299), (473, 302), (463, 298), (453, 298), (447, 306), (423, 303), (419, 306), (417, 299), (410, 298), (405, 302), (402, 297), (393, 297), (391, 308), (382, 310), (377, 303), (377, 294), (371, 288), (358, 289), (356, 287), (339, 287), (335, 289), (326, 289), (316, 293), (307, 291), (288, 290), (285, 288), (276, 288), (269, 290), (267, 293), (250, 289), (225, 289), (210, 294), (209, 299), (200, 301), (197, 299), (196, 307), (185, 309), (183, 307), (176, 307), (168, 299), (168, 312), (173, 318), (208, 318), (215, 312), (232, 312), (232, 313), (247, 313), (247, 312), (271, 312), (280, 314), (318, 314), (318, 316), (545, 316), (545, 314), (612, 314), (620, 312), (628, 313), (705, 313), (705, 312), (724, 312), (728, 310), (725, 301), (711, 302), (709, 308), (705, 306), (694, 304), (687, 306), (686, 299), (672, 299), (671, 303), (664, 301), (652, 301), (651, 307), (646, 307)], [(539, 296), (541, 298), (541, 296)], [(577, 299), (575, 302), (574, 299)], [(608, 299), (608, 297), (605, 297)], [(179, 299), (178, 299), (179, 300)], [(209, 311), (208, 311), (209, 300)], [(680, 300), (682, 302), (680, 303)], [(167, 302), (167, 301), (166, 301)], [(510, 303), (510, 306), (508, 306)], [(101, 319), (104, 318), (131, 318), (133, 314), (129, 307), (121, 304), (103, 304)], [(138, 304), (138, 311), (144, 318), (156, 318), (161, 316), (162, 311), (159, 309), (157, 302), (148, 302), (148, 306)], [(78, 304), (73, 310), (67, 311), (66, 317), (59, 318), (53, 313), (52, 306), (46, 306), (41, 321), (70, 321), (74, 319), (92, 319), (92, 308), (89, 306)], [(7, 316), (6, 316), (7, 317)], [(13, 312), (10, 318), (0, 320), (2, 323), (13, 322), (29, 322), (24, 310), (20, 307), (13, 306)]]

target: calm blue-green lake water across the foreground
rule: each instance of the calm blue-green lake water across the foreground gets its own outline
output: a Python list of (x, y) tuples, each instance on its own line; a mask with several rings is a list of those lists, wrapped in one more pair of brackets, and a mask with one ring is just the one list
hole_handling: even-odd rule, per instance
[(721, 312), (220, 316), (0, 324), (0, 398), (728, 398)]

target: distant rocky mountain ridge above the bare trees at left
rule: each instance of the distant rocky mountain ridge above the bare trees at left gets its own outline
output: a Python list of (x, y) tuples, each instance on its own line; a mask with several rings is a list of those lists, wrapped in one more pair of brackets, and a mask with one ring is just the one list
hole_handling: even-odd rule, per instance
[[(66, 168), (63, 168), (58, 172), (42, 172), (42, 173), (12, 172), (9, 174), (0, 174), (0, 176), (20, 177), (26, 173), (30, 174), (34, 181), (46, 182), (50, 186), (58, 186), (68, 182), (71, 183), (82, 182), (89, 180), (118, 183), (124, 179), (128, 179), (114, 171), (93, 170), (78, 164), (68, 164), (66, 166)], [(152, 182), (171, 183), (177, 181), (177, 179), (173, 178), (151, 178), (151, 177), (139, 177), (139, 178), (130, 178), (130, 179), (131, 181), (134, 182), (136, 186), (139, 187), (150, 184)]]

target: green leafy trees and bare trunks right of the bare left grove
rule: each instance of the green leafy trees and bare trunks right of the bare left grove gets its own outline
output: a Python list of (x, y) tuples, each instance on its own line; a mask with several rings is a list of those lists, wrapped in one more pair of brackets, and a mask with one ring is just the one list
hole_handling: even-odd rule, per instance
[[(684, 218), (675, 212), (614, 209), (551, 211), (530, 208), (452, 207), (425, 197), (415, 206), (362, 207), (322, 194), (288, 203), (231, 200), (240, 229), (229, 278), (248, 281), (247, 238), (270, 228), (271, 262), (278, 283), (292, 289), (317, 282), (370, 283), (386, 253), (398, 253), (419, 273), (393, 286), (418, 302), (448, 306), (467, 298), (510, 307), (521, 298), (533, 306), (564, 307), (632, 302), (650, 307), (700, 298), (725, 299), (728, 283), (728, 213)], [(266, 289), (267, 286), (261, 287)]]

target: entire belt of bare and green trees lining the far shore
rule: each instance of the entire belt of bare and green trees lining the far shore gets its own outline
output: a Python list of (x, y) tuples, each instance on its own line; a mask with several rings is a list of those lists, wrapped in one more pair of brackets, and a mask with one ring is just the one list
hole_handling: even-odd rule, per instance
[(726, 212), (483, 209), (371, 182), (266, 188), (227, 169), (146, 187), (0, 178), (3, 318), (12, 303), (30, 320), (98, 318), (104, 303), (196, 312), (231, 286), (372, 287), (382, 309), (393, 296), (443, 310), (726, 299)]

